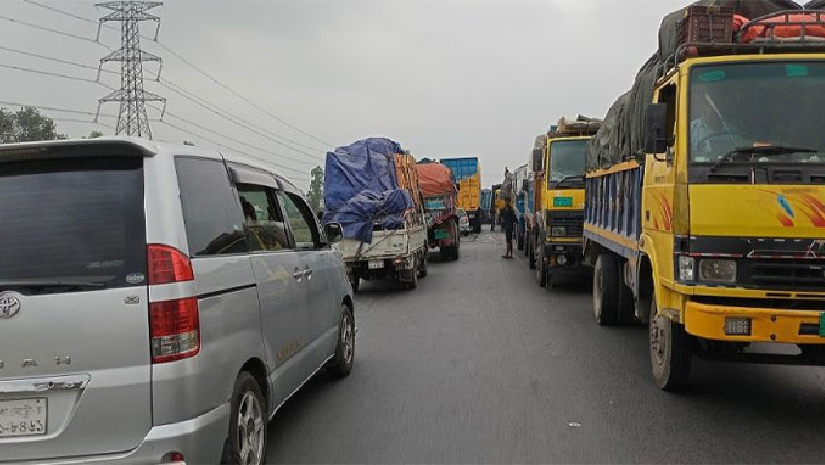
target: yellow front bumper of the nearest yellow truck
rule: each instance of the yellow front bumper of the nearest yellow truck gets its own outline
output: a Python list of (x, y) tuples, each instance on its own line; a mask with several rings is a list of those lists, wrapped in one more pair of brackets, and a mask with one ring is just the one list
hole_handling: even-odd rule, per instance
[[(685, 329), (694, 336), (717, 341), (825, 344), (825, 337), (819, 335), (822, 313), (687, 302)], [(730, 334), (726, 324), (732, 324), (733, 320), (749, 326), (749, 334)], [(749, 323), (741, 323), (745, 320)]]

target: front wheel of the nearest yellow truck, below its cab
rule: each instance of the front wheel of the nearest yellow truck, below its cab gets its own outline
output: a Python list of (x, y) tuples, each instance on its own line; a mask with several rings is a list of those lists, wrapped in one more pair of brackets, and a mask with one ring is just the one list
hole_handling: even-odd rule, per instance
[(690, 377), (693, 338), (685, 327), (659, 314), (656, 296), (650, 307), (650, 363), (653, 379), (664, 391), (683, 391)]

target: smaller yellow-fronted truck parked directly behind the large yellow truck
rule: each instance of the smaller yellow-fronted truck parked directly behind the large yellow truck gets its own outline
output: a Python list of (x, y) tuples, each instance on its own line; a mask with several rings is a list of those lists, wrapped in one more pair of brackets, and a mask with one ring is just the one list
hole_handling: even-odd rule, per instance
[(539, 286), (553, 289), (560, 273), (583, 271), (585, 161), (600, 127), (592, 118), (562, 118), (533, 160), (536, 202), (528, 255)]

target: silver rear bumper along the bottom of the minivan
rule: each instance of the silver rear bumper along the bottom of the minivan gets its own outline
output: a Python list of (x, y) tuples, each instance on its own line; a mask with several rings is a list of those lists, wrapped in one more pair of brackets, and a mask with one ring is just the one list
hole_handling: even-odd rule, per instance
[[(229, 433), (228, 403), (197, 418), (155, 426), (136, 449), (121, 454), (90, 455), (16, 462), (25, 465), (118, 464), (157, 465), (170, 452), (183, 454), (188, 464), (220, 463)], [(105, 441), (105, 438), (100, 438)], [(3, 463), (0, 460), (0, 463)]]

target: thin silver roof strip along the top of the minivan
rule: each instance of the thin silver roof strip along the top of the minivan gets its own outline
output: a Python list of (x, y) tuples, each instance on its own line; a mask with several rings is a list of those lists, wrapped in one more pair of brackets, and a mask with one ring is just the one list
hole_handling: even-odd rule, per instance
[[(166, 142), (155, 142), (137, 137), (128, 136), (106, 136), (97, 139), (66, 139), (66, 140), (50, 140), (50, 141), (36, 141), (36, 142), (19, 142), (15, 144), (0, 144), (0, 162), (4, 161), (19, 161), (31, 158), (50, 158), (51, 151), (54, 149), (111, 149), (120, 148), (126, 149), (128, 154), (142, 155), (144, 157), (154, 156), (197, 156), (202, 158), (221, 159), (225, 158), (227, 161), (248, 165), (254, 168), (259, 168), (272, 173), (278, 178), (281, 183), (286, 186), (288, 190), (300, 192), (292, 182), (278, 173), (276, 169), (254, 157), (244, 156), (231, 152), (219, 152), (214, 149), (194, 147), (191, 145), (177, 145)], [(107, 151), (107, 155), (111, 155)]]

